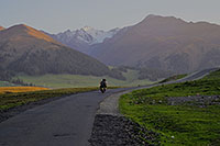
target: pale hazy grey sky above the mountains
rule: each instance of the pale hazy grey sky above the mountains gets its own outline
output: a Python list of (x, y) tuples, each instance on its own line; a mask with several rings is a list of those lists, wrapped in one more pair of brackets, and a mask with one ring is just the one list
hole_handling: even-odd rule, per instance
[(50, 33), (123, 27), (148, 14), (220, 24), (220, 0), (0, 0), (0, 25), (24, 23)]

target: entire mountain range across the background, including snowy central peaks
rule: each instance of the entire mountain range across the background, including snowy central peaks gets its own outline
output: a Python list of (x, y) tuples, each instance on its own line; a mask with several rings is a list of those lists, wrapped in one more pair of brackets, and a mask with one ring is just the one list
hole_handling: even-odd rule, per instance
[(220, 25), (174, 16), (151, 14), (123, 29), (85, 26), (58, 34), (24, 24), (0, 26), (0, 70), (28, 75), (109, 75), (124, 79), (106, 65), (184, 74), (220, 66), (219, 56)]

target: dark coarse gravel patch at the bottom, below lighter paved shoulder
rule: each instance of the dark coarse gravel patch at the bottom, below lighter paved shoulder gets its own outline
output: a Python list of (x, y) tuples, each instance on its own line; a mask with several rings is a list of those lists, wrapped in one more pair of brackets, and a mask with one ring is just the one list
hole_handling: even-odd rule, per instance
[[(108, 114), (97, 114), (90, 146), (150, 146), (158, 135), (125, 119)], [(145, 139), (145, 141), (143, 141)]]

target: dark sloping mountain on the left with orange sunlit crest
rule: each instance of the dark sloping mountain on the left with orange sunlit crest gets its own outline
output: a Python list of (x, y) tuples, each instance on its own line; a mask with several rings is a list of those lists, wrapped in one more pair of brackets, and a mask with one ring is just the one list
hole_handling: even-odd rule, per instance
[(74, 74), (114, 77), (114, 74), (97, 59), (24, 24), (0, 31), (0, 68), (33, 76)]

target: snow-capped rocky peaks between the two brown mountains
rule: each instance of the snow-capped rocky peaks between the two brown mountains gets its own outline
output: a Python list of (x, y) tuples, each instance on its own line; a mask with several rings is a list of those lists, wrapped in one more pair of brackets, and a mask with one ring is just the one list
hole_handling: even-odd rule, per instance
[(76, 31), (67, 30), (58, 34), (50, 34), (46, 32), (44, 33), (46, 33), (57, 42), (61, 42), (62, 44), (65, 44), (72, 48), (87, 54), (88, 49), (90, 48), (90, 45), (102, 43), (106, 38), (111, 38), (119, 31), (120, 29), (102, 31), (96, 30), (90, 26), (85, 26)]

